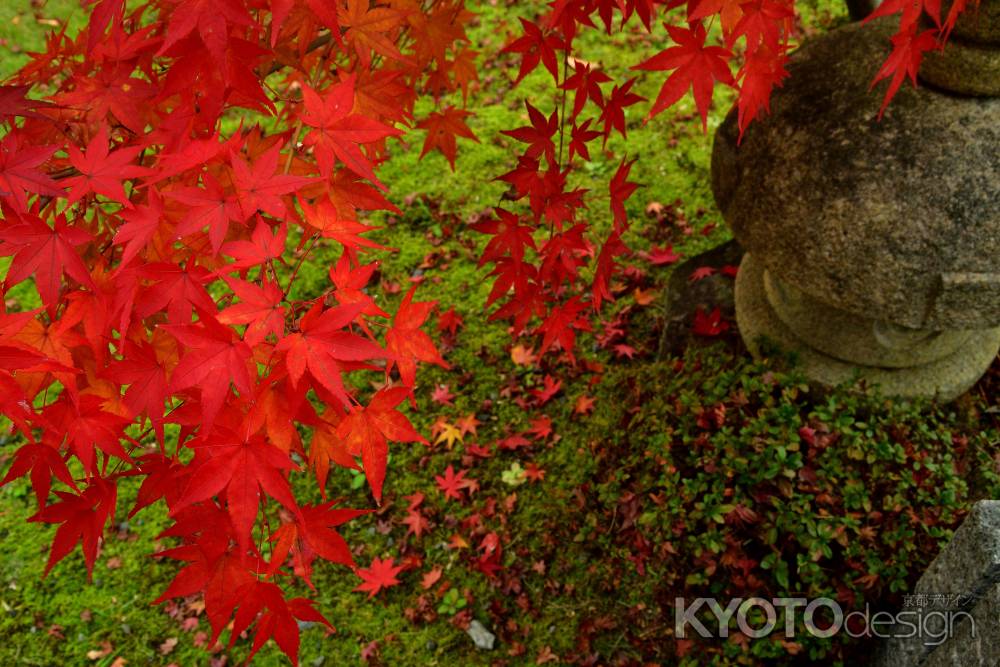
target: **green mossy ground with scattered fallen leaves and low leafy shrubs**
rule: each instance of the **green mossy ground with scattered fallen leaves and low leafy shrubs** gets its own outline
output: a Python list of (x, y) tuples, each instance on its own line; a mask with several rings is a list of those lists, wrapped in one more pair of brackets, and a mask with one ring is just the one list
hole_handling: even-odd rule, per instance
[[(372, 600), (353, 592), (358, 579), (349, 570), (318, 568), (318, 606), (337, 632), (305, 630), (302, 664), (857, 664), (870, 647), (843, 638), (678, 641), (673, 600), (797, 594), (898, 604), (970, 503), (1000, 491), (995, 375), (941, 407), (893, 404), (873, 392), (814, 395), (794, 374), (748, 361), (732, 331), (692, 340), (682, 358), (660, 359), (656, 295), (670, 269), (638, 257), (630, 263), (642, 275), (623, 285), (617, 305), (627, 325), (621, 342), (635, 349), (633, 358), (583, 337), (579, 349), (600, 371), (552, 360), (515, 363), (507, 329), (484, 315), (481, 239), (467, 223), (503, 192), (492, 179), (511, 168), (513, 152), (499, 131), (524, 122), (525, 97), (545, 112), (556, 100), (546, 103), (552, 87), (542, 71), (512, 89), (513, 61), (495, 56), (517, 16), (535, 5), (470, 5), (480, 14), (471, 37), (484, 54), (482, 84), (470, 99), (481, 143), (461, 142), (455, 172), (440, 155), (418, 159), (419, 134), (395, 146), (381, 176), (404, 214), (376, 219), (383, 228), (373, 238), (398, 249), (382, 253), (383, 288), (405, 291), (420, 282), (418, 298), (437, 299), (464, 319), (456, 336), (442, 337), (451, 369), (431, 368), (420, 378), (415, 424), (424, 433), (438, 419), (455, 425), (472, 415), (479, 424), (451, 443), (393, 447), (383, 505), (344, 535), (362, 565), (392, 557), (414, 567)], [(841, 8), (826, 2), (802, 11), (809, 30), (844, 20)], [(5, 2), (0, 29), (8, 32), (0, 35), (8, 52), (11, 44), (41, 46), (37, 12), (80, 20), (68, 0)], [(8, 15), (22, 19), (10, 24)], [(586, 41), (580, 55), (617, 76), (654, 49), (649, 38), (626, 35)], [(8, 52), (4, 73), (23, 62)], [(649, 77), (640, 92), (653, 98), (656, 87)], [(639, 105), (628, 139), (609, 145), (639, 159), (632, 180), (643, 187), (629, 202), (635, 248), (672, 242), (690, 256), (727, 239), (708, 186), (710, 133), (727, 104), (717, 100), (709, 135), (690, 99), (648, 125)], [(603, 190), (619, 158), (594, 158), (578, 178)], [(650, 202), (676, 202), (674, 222), (688, 221), (692, 233), (646, 217)], [(607, 201), (595, 196), (590, 212), (598, 228), (607, 224), (606, 211)], [(315, 254), (303, 268), (302, 293), (321, 290), (335, 260)], [(393, 291), (383, 289), (390, 303), (400, 298)], [(539, 406), (530, 391), (546, 376), (563, 384)], [(451, 404), (431, 400), (439, 385), (454, 394)], [(592, 410), (577, 409), (581, 397), (593, 399)], [(542, 416), (551, 420), (544, 437), (530, 433)], [(518, 435), (525, 446), (495, 446)], [(491, 455), (477, 455), (475, 445)], [(0, 462), (11, 449), (0, 445)], [(435, 485), (449, 465), (479, 482), (464, 502), (446, 499)], [(526, 479), (529, 468), (543, 470), (544, 479)], [(356, 481), (338, 471), (329, 488), (349, 506), (373, 507)], [(176, 570), (149, 557), (168, 523), (162, 507), (124, 520), (134, 493), (123, 487), (121, 523), (106, 535), (88, 582), (78, 554), (41, 578), (52, 530), (25, 522), (34, 511), (25, 483), (0, 490), (0, 664), (200, 665), (246, 655), (243, 641), (207, 656), (198, 600), (150, 604)], [(420, 537), (401, 523), (406, 496), (415, 493), (426, 496), (421, 512), (430, 522)], [(501, 569), (488, 576), (475, 563), (491, 532), (502, 556)], [(435, 567), (441, 579), (425, 590), (422, 576)], [(463, 630), (471, 619), (498, 635), (493, 651), (473, 646)], [(268, 645), (256, 664), (287, 660)]]

